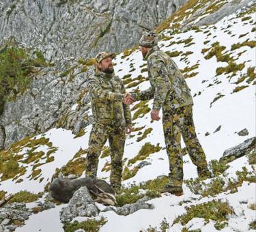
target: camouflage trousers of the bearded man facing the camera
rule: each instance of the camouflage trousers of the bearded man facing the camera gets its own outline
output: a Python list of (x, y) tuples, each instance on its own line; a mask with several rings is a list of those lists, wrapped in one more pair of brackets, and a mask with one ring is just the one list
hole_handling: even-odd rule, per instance
[(111, 126), (94, 124), (89, 136), (89, 147), (85, 164), (85, 175), (96, 178), (98, 161), (102, 147), (109, 139), (109, 150), (111, 156), (111, 186), (118, 190), (122, 180), (122, 158), (126, 140), (125, 126)]

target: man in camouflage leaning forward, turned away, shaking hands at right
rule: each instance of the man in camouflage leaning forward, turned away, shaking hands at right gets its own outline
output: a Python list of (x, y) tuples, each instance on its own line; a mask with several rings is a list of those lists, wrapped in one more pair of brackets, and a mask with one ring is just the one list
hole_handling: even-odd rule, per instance
[(193, 122), (193, 100), (190, 89), (176, 63), (158, 47), (158, 35), (144, 32), (139, 47), (143, 58), (147, 60), (148, 77), (151, 87), (138, 93), (129, 93), (124, 101), (131, 104), (135, 100), (154, 98), (151, 117), (159, 120), (162, 108), (162, 124), (169, 156), (169, 184), (162, 192), (183, 194), (183, 161), (180, 145), (181, 135), (186, 150), (197, 166), (199, 177), (210, 177), (203, 148), (201, 147)]

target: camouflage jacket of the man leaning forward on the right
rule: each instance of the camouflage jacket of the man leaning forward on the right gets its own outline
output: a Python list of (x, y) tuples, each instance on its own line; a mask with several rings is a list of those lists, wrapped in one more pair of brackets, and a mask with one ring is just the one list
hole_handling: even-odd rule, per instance
[(151, 87), (139, 93), (132, 93), (135, 100), (154, 98), (153, 108), (173, 110), (193, 104), (190, 89), (176, 63), (158, 46), (154, 46), (146, 57)]

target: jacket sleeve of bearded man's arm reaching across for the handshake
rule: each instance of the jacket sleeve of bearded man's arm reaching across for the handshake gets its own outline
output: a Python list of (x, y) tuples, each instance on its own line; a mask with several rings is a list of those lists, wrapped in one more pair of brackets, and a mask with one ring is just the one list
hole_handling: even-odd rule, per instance
[(120, 101), (122, 102), (124, 94), (114, 93), (111, 91), (106, 91), (102, 89), (100, 83), (94, 78), (94, 76), (89, 77), (87, 81), (87, 89), (91, 98), (103, 98), (110, 101)]

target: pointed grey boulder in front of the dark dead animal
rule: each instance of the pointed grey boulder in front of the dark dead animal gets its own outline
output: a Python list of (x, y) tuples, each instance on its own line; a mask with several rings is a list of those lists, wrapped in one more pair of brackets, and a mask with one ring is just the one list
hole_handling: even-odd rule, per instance
[(68, 206), (63, 207), (60, 212), (61, 222), (69, 222), (77, 216), (97, 216), (99, 213), (87, 187), (83, 186), (74, 192)]

